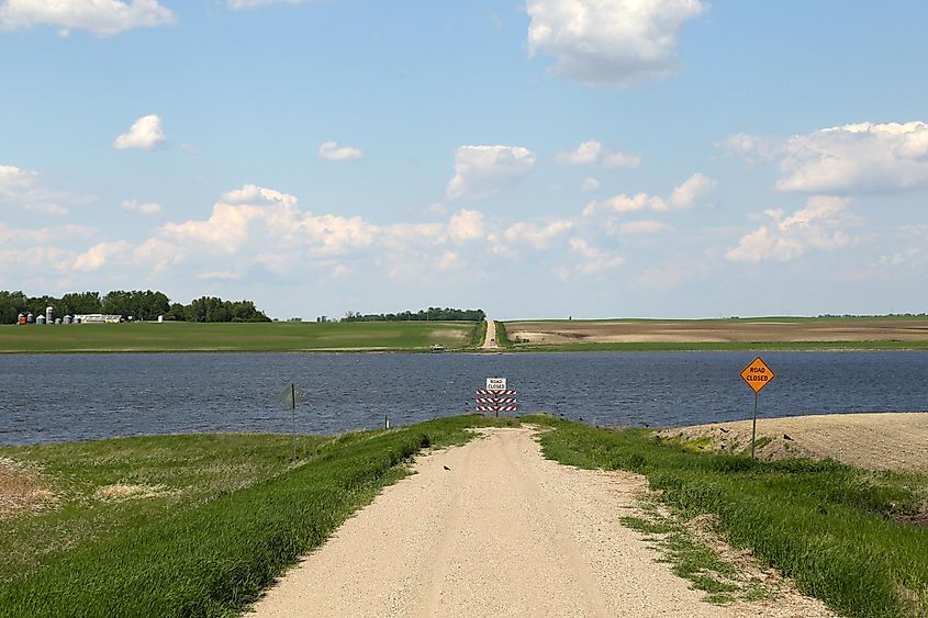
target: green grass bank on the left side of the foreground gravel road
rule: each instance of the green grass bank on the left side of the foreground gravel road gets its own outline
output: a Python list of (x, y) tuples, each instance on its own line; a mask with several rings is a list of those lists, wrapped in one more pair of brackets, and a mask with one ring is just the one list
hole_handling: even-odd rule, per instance
[[(168, 436), (0, 449), (41, 467), (62, 503), (0, 521), (3, 616), (228, 616), (244, 610), (427, 447), (463, 443), (478, 415), (301, 438)], [(159, 487), (94, 497), (101, 485)]]

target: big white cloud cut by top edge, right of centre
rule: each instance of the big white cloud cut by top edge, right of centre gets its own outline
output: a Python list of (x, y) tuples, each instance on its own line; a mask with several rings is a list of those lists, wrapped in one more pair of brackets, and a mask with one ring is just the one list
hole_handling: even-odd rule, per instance
[(700, 0), (529, 0), (528, 53), (556, 75), (592, 86), (629, 86), (677, 70), (683, 24)]

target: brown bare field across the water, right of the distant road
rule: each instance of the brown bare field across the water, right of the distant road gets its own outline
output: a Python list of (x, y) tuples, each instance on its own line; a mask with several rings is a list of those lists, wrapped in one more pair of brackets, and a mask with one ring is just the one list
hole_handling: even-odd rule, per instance
[(537, 345), (928, 341), (928, 318), (507, 322), (506, 332)]

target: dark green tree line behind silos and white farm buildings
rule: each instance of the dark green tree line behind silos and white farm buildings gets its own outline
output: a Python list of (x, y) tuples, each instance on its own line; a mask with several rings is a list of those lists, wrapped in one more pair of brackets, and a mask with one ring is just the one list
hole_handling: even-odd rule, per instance
[(114, 290), (68, 293), (62, 297), (26, 296), (22, 292), (0, 291), (0, 324), (13, 324), (19, 314), (44, 315), (52, 307), (55, 317), (65, 315), (102, 313), (132, 316), (135, 319), (165, 319), (180, 322), (270, 322), (251, 301), (224, 301), (216, 296), (202, 296), (190, 304), (171, 303), (164, 292), (152, 290)]

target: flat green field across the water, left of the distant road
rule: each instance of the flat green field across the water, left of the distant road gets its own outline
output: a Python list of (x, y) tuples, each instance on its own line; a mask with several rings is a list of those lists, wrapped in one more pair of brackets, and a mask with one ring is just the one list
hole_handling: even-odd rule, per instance
[(0, 326), (0, 352), (304, 352), (449, 350), (474, 344), (471, 322), (126, 323)]

